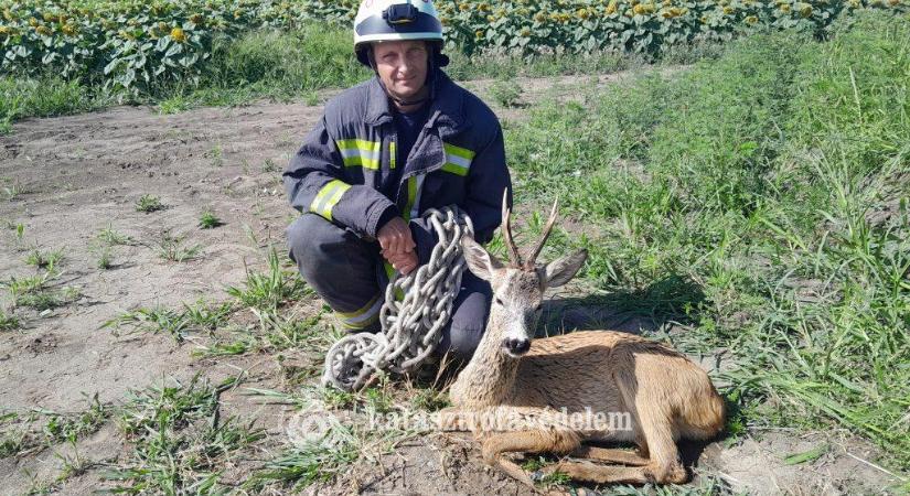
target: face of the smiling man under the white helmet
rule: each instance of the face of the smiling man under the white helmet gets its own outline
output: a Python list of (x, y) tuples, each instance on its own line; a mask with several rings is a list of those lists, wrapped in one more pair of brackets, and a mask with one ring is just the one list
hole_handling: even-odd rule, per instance
[(407, 100), (424, 88), (429, 66), (426, 42), (417, 40), (375, 43), (373, 56), (379, 78), (394, 97)]

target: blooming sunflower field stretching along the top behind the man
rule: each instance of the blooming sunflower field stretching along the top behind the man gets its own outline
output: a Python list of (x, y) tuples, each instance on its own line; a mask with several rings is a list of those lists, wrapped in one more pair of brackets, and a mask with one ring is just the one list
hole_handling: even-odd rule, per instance
[[(855, 9), (908, 10), (910, 0), (475, 0), (437, 2), (450, 50), (467, 55), (659, 54), (756, 30), (823, 34)], [(52, 72), (133, 91), (194, 80), (216, 36), (320, 22), (350, 26), (358, 1), (0, 0), (0, 73)]]

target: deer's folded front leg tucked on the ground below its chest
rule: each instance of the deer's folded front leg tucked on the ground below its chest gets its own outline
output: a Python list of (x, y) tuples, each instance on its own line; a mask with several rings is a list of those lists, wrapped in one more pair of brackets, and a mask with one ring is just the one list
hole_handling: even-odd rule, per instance
[(490, 435), (483, 442), (483, 460), (522, 483), (534, 487), (531, 477), (503, 453), (569, 453), (581, 444), (578, 434), (565, 430), (516, 431)]

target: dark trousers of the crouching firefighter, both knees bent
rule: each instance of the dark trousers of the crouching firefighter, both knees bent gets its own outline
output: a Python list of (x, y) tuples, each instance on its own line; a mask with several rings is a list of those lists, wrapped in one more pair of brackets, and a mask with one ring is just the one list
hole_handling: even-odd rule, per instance
[[(378, 242), (366, 241), (315, 214), (303, 214), (287, 234), (300, 274), (342, 324), (351, 331), (378, 331), (386, 284)], [(486, 281), (464, 271), (437, 354), (451, 352), (457, 358), (470, 358), (486, 327), (492, 293)]]

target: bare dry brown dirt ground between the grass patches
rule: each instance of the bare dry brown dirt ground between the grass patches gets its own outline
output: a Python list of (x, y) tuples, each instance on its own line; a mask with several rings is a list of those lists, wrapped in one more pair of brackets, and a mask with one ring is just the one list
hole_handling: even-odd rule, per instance
[[(606, 85), (611, 79), (597, 82)], [(591, 82), (586, 77), (520, 84), (526, 88), (523, 98), (533, 101), (554, 87), (563, 95), (567, 87), (575, 85), (578, 91), (579, 85)], [(471, 86), (483, 89), (489, 85)], [(525, 111), (496, 110), (508, 119), (518, 119)], [(321, 107), (302, 104), (204, 108), (180, 115), (115, 108), (26, 120), (17, 123), (12, 134), (0, 137), (0, 179), (12, 196), (0, 203), (0, 279), (34, 274), (35, 269), (24, 263), (34, 247), (63, 249), (63, 273), (52, 288), (76, 288), (79, 294), (74, 302), (44, 312), (15, 310), (22, 328), (0, 334), (2, 411), (82, 411), (86, 398), (95, 393), (103, 403), (118, 405), (130, 389), (162, 380), (185, 381), (201, 373), (216, 382), (245, 370), (242, 387), (223, 395), (222, 405), (243, 418), (257, 419), (269, 442), (232, 462), (227, 472), (242, 481), (274, 454), (272, 448), (285, 441), (285, 425), (293, 411), (245, 395), (244, 388), (295, 388), (285, 380), (276, 356), (194, 357), (191, 353), (204, 344), (203, 337), (178, 344), (167, 334), (117, 332), (103, 324), (138, 308), (179, 308), (200, 298), (225, 300), (224, 288), (246, 278), (245, 265), (261, 268), (266, 247), (283, 246), (285, 226), (295, 216), (280, 185), (280, 171), (321, 111)], [(137, 212), (136, 202), (144, 194), (160, 196), (165, 208)], [(197, 222), (206, 209), (225, 225), (200, 229)], [(24, 226), (21, 239), (15, 230), (19, 224)], [(113, 267), (101, 270), (97, 268), (97, 235), (108, 226), (135, 242), (115, 247)], [(185, 242), (201, 245), (202, 251), (192, 260), (167, 261), (158, 248), (165, 236), (185, 237)], [(301, 304), (304, 311), (319, 309), (318, 302)], [(595, 317), (604, 319), (598, 309), (589, 314), (576, 311), (572, 316), (576, 322)], [(629, 331), (640, 327), (636, 322), (622, 324)], [(313, 359), (318, 364), (319, 357)], [(708, 357), (703, 363), (710, 366), (713, 362)], [(806, 463), (783, 462), (786, 455), (822, 444), (833, 448)], [(61, 443), (0, 459), (0, 479), (4, 481), (0, 494), (22, 494), (53, 481), (61, 471), (61, 455), (73, 450)], [(56, 487), (64, 494), (110, 487), (103, 478), (104, 464), (124, 460), (131, 446), (117, 422), (108, 420), (75, 450), (101, 465), (64, 481)], [(486, 468), (478, 451), (465, 435), (418, 436), (306, 490), (527, 493)], [(689, 451), (697, 459), (693, 462), (695, 487), (714, 481), (722, 492), (880, 493), (893, 482), (866, 462), (875, 459), (869, 446), (838, 432), (760, 431), (729, 446), (719, 441)], [(579, 494), (586, 490), (596, 492), (588, 488)]]

